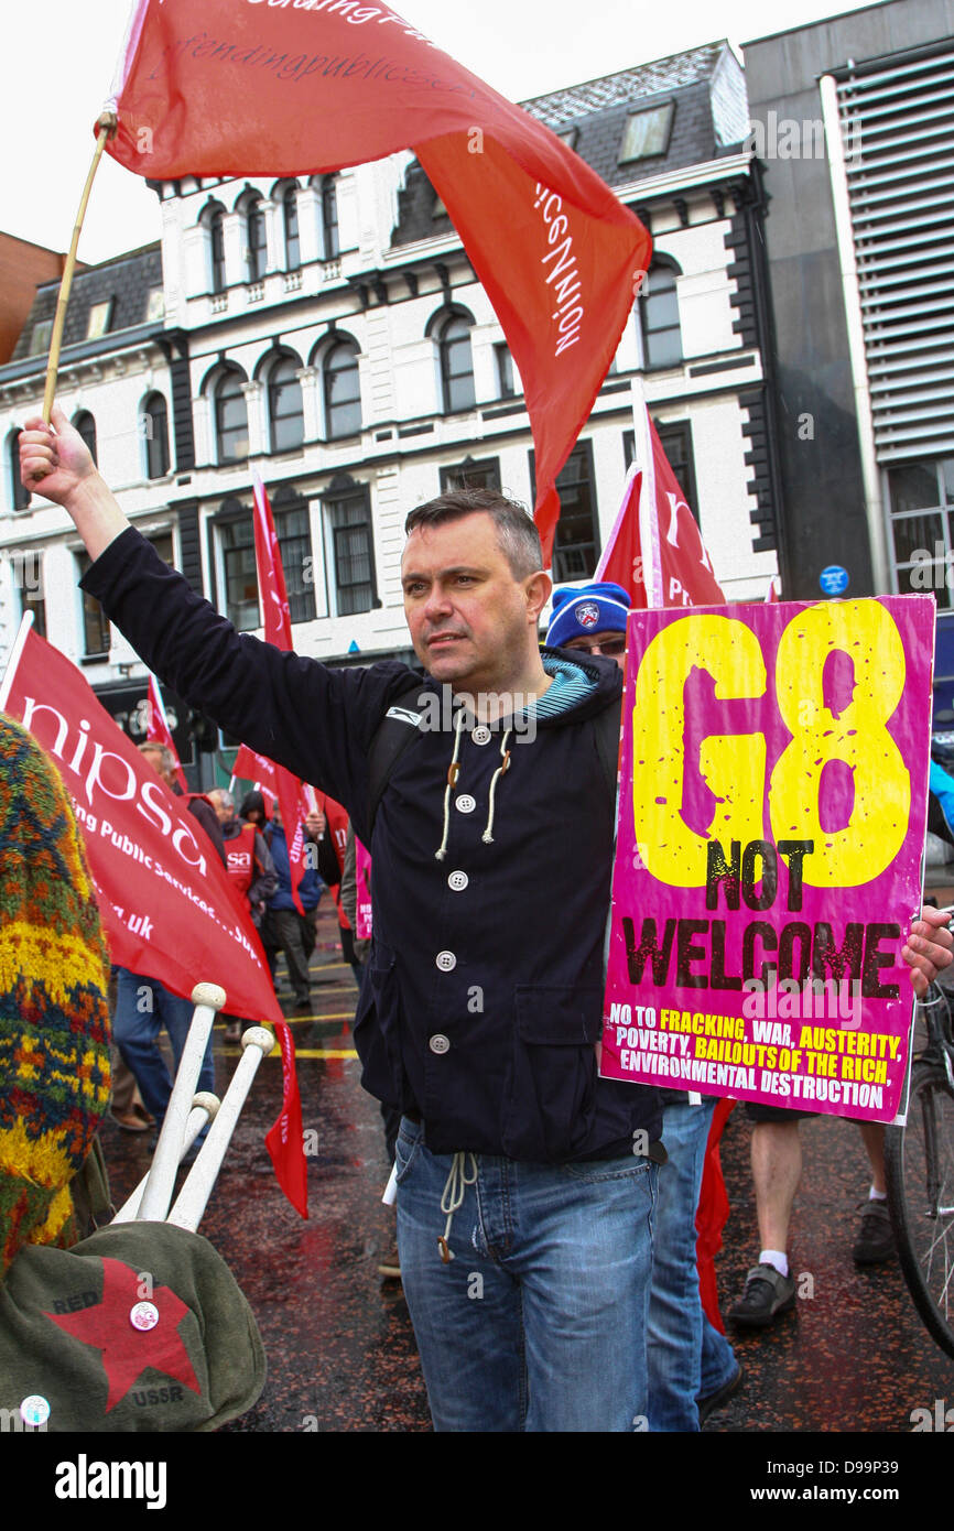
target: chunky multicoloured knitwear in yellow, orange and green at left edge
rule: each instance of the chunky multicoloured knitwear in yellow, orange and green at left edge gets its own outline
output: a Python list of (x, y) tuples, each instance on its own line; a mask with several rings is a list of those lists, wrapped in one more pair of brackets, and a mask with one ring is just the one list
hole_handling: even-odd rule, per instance
[(74, 1242), (69, 1182), (109, 1105), (109, 957), (58, 772), (0, 715), (0, 1277)]

